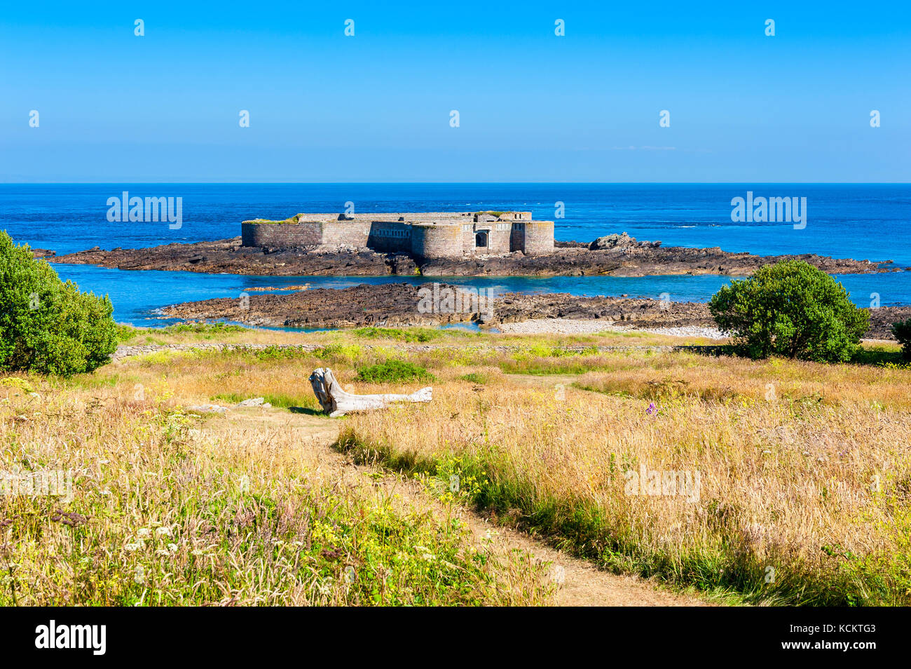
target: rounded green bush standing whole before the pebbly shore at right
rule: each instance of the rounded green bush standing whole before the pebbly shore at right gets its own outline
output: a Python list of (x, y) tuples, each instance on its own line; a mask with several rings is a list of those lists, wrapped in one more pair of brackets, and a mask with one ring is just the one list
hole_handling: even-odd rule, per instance
[(715, 293), (709, 310), (752, 358), (783, 355), (817, 362), (851, 359), (870, 314), (841, 283), (803, 261), (763, 265)]

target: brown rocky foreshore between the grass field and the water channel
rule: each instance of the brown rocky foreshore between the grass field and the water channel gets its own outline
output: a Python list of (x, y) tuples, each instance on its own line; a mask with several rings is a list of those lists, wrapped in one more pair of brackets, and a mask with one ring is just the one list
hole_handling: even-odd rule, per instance
[[(374, 326), (475, 323), (485, 327), (528, 321), (563, 320), (597, 322), (602, 329), (641, 329), (666, 334), (711, 336), (715, 323), (708, 304), (661, 302), (653, 299), (580, 296), (568, 293), (505, 293), (469, 308), (447, 310), (422, 308), (422, 296), (433, 286), (438, 291), (464, 288), (445, 284), (383, 283), (351, 288), (320, 288), (288, 294), (258, 294), (245, 298), (218, 298), (176, 304), (163, 309), (171, 317), (190, 321), (223, 319), (256, 326), (301, 327), (308, 329)], [(422, 292), (422, 288), (424, 291)], [(471, 304), (463, 300), (461, 304)], [(911, 307), (880, 307), (870, 313), (865, 337), (892, 339), (893, 323), (911, 317)], [(508, 328), (517, 329), (517, 328)], [(596, 328), (597, 329), (597, 328)], [(518, 329), (520, 331), (521, 328)], [(578, 328), (577, 331), (589, 330)], [(543, 331), (540, 328), (538, 331)]]

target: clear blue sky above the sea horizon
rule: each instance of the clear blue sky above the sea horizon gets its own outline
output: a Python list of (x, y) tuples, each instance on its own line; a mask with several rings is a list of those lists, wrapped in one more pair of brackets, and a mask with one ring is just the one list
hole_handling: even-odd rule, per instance
[(5, 182), (911, 181), (908, 0), (5, 0), (0, 91)]

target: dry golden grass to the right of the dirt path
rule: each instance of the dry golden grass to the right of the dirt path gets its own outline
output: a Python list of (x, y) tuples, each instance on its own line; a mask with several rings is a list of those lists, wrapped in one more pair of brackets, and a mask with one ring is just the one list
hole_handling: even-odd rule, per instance
[[(620, 569), (757, 601), (911, 602), (911, 371), (599, 359), (611, 371), (578, 384), (619, 395), (519, 384), (488, 357), (444, 368), (432, 405), (351, 417), (344, 441), (393, 467), (457, 458), (491, 481), (479, 503)], [(698, 501), (628, 494), (640, 466), (699, 472)]]

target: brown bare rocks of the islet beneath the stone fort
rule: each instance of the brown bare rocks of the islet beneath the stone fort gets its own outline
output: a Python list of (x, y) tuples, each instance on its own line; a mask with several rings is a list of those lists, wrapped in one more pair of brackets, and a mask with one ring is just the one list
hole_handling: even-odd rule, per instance
[(798, 259), (826, 273), (856, 274), (900, 272), (892, 261), (836, 259), (814, 253), (753, 255), (725, 252), (718, 247), (691, 249), (664, 247), (660, 242), (639, 242), (625, 232), (595, 242), (557, 242), (553, 253), (424, 260), (406, 253), (382, 253), (354, 247), (314, 246), (259, 248), (241, 246), (235, 237), (217, 242), (167, 244), (147, 249), (99, 247), (54, 256), (53, 262), (94, 264), (121, 270), (169, 272), (347, 276), (651, 276), (661, 274), (721, 274), (748, 276), (763, 264)]

